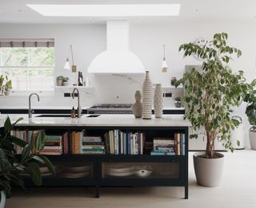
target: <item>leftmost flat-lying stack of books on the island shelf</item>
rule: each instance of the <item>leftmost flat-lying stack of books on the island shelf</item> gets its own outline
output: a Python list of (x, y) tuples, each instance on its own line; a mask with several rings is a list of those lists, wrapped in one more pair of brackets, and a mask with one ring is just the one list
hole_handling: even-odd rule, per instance
[(40, 153), (42, 155), (62, 155), (62, 135), (46, 135), (46, 145)]

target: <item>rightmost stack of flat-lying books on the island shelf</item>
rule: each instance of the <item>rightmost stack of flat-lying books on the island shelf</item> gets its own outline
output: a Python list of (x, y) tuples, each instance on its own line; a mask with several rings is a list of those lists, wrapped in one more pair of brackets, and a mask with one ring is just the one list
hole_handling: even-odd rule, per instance
[(150, 155), (175, 155), (175, 140), (172, 138), (154, 138), (153, 146)]

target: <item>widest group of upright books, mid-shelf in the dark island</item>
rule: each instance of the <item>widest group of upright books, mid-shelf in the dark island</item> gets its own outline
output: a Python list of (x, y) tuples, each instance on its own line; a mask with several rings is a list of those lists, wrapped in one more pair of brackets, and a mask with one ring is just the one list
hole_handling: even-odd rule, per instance
[(106, 154), (143, 155), (145, 154), (144, 132), (122, 132), (118, 129), (104, 134)]

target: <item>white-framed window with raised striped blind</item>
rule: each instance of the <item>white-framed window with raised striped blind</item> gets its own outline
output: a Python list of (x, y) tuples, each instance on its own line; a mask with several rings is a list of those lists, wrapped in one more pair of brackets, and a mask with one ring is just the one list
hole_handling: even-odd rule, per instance
[(54, 40), (0, 39), (0, 74), (14, 91), (54, 90)]

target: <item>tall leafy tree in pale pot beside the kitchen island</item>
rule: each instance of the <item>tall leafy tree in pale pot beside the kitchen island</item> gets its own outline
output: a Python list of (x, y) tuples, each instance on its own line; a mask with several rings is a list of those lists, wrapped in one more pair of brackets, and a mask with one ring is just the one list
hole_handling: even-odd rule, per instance
[[(187, 43), (180, 46), (184, 57), (194, 55), (202, 59), (202, 69), (191, 69), (183, 74), (175, 86), (182, 84), (186, 105), (184, 118), (190, 120), (194, 131), (204, 131), (206, 151), (194, 154), (194, 171), (202, 186), (218, 186), (222, 177), (224, 155), (214, 151), (214, 142), (234, 151), (230, 142), (230, 131), (239, 125), (230, 113), (233, 106), (241, 104), (247, 85), (243, 72), (232, 73), (228, 66), (232, 54), (240, 57), (239, 49), (226, 44), (226, 33), (214, 34), (213, 40), (200, 46)], [(197, 133), (190, 138), (198, 138)]]

